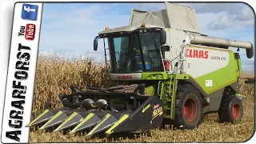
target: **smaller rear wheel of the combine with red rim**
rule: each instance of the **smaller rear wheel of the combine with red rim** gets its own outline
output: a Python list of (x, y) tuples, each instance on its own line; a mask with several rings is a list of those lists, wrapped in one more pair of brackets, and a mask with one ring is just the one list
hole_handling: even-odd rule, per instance
[(243, 106), (241, 100), (236, 96), (223, 97), (218, 110), (220, 122), (241, 122)]

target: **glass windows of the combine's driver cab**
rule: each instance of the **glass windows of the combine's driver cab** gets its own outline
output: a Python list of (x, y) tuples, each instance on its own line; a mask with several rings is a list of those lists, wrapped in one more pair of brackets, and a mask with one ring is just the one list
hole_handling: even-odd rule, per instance
[(108, 38), (110, 46), (111, 73), (139, 73), (162, 71), (160, 34), (132, 33)]

